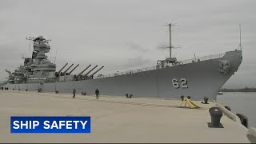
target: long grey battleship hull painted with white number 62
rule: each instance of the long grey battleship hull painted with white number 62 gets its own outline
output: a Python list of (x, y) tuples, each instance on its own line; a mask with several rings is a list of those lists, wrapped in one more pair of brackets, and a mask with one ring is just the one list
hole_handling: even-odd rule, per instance
[[(230, 69), (224, 73), (220, 69), (222, 61), (230, 62)], [(122, 74), (108, 78), (94, 78), (82, 81), (6, 84), (9, 90), (38, 90), (43, 92), (94, 94), (96, 88), (102, 95), (133, 97), (180, 98), (190, 96), (202, 100), (205, 96), (215, 100), (218, 90), (238, 70), (242, 62), (242, 50), (226, 52), (220, 58), (183, 63), (161, 69), (142, 70), (133, 74)]]

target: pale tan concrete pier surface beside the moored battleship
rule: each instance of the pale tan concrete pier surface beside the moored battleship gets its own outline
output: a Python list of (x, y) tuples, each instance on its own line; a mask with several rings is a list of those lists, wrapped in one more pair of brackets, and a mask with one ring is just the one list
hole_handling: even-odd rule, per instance
[[(250, 142), (246, 127), (224, 114), (224, 128), (209, 128), (216, 104), (193, 102), (201, 108), (179, 108), (174, 99), (0, 90), (0, 142)], [(23, 115), (90, 116), (91, 134), (10, 134), (10, 116)]]

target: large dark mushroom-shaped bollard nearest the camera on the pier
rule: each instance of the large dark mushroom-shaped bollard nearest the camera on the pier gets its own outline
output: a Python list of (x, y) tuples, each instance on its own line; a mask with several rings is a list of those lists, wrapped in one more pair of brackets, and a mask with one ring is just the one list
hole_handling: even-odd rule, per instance
[(222, 118), (222, 110), (220, 110), (218, 107), (211, 107), (209, 109), (211, 122), (208, 123), (209, 127), (215, 127), (215, 128), (223, 128), (222, 123), (220, 123)]

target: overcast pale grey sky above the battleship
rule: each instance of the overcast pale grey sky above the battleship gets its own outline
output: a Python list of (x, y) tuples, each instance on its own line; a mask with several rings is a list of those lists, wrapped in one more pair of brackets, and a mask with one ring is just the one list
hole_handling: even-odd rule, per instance
[(98, 74), (156, 65), (168, 57), (169, 22), (173, 54), (178, 60), (219, 54), (239, 44), (242, 25), (243, 61), (226, 88), (256, 87), (256, 1), (251, 0), (92, 0), (0, 1), (0, 80), (31, 57), (26, 36), (44, 36), (47, 54), (57, 64), (80, 64), (74, 74), (92, 64), (105, 66)]

